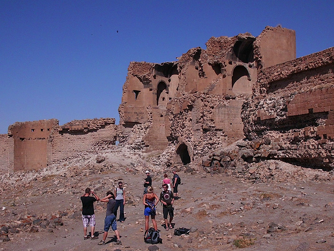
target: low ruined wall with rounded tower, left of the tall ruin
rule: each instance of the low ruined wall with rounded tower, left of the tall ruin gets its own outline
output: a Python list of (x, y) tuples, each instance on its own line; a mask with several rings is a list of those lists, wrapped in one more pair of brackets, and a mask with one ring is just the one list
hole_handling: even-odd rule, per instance
[(29, 170), (115, 145), (115, 119), (73, 120), (59, 126), (56, 119), (16, 122), (1, 135), (2, 168)]

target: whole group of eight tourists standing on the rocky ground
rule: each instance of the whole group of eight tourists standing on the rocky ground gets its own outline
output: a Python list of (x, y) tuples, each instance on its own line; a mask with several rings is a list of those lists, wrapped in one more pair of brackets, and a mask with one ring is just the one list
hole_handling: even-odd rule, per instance
[[(150, 172), (147, 170), (145, 172), (146, 177), (144, 181), (144, 196), (143, 196), (143, 204), (145, 205), (144, 216), (145, 216), (145, 231), (149, 229), (149, 218), (151, 217), (152, 224), (154, 230), (157, 231), (157, 224), (155, 221), (156, 215), (156, 205), (161, 202), (162, 203), (162, 213), (164, 219), (164, 228), (166, 231), (169, 229), (173, 229), (174, 225), (172, 224), (174, 218), (174, 200), (179, 199), (178, 194), (178, 185), (181, 184), (181, 178), (173, 171), (172, 181), (168, 178), (168, 175), (165, 173), (163, 175), (162, 181), (162, 192), (158, 197), (152, 187), (152, 177), (150, 176)], [(172, 192), (173, 188), (173, 192)], [(91, 196), (92, 195), (92, 196)], [(115, 197), (116, 195), (116, 197)], [(114, 231), (115, 236), (117, 238), (116, 244), (121, 245), (122, 242), (120, 240), (119, 231), (117, 230), (117, 210), (119, 207), (119, 222), (124, 222), (126, 218), (124, 217), (124, 204), (126, 202), (126, 193), (123, 188), (123, 183), (118, 182), (118, 187), (115, 188), (114, 193), (108, 191), (106, 193), (106, 197), (100, 199), (99, 196), (92, 191), (90, 188), (86, 188), (85, 194), (80, 197), (82, 202), (82, 222), (84, 224), (84, 239), (98, 239), (98, 236), (94, 235), (95, 230), (95, 212), (94, 212), (94, 202), (101, 201), (107, 203), (106, 210), (106, 218), (104, 220), (104, 233), (102, 240), (98, 243), (98, 245), (105, 245), (106, 238), (108, 236), (108, 231), (111, 229)], [(168, 216), (170, 217), (168, 221)], [(88, 226), (91, 227), (91, 235), (87, 234)]]

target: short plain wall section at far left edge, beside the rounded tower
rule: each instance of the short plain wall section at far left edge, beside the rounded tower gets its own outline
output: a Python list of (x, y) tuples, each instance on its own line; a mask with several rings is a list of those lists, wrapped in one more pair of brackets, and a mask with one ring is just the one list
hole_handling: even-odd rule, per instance
[(14, 139), (8, 134), (0, 134), (0, 170), (13, 170)]

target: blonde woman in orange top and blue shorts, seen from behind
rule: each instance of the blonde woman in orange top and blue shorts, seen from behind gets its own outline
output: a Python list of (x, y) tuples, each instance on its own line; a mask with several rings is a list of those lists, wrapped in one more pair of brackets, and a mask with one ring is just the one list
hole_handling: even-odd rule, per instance
[(153, 228), (158, 230), (156, 221), (155, 221), (155, 206), (159, 203), (158, 196), (153, 192), (153, 187), (147, 187), (147, 194), (144, 194), (143, 204), (145, 205), (144, 216), (145, 216), (145, 231), (148, 230), (148, 223), (150, 216), (153, 223)]

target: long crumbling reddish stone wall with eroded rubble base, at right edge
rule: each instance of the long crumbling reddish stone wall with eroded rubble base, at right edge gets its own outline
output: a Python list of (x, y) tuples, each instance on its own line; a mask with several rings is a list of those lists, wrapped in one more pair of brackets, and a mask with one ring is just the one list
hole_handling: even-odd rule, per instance
[(245, 136), (276, 142), (269, 157), (334, 168), (334, 48), (261, 69), (242, 107)]

